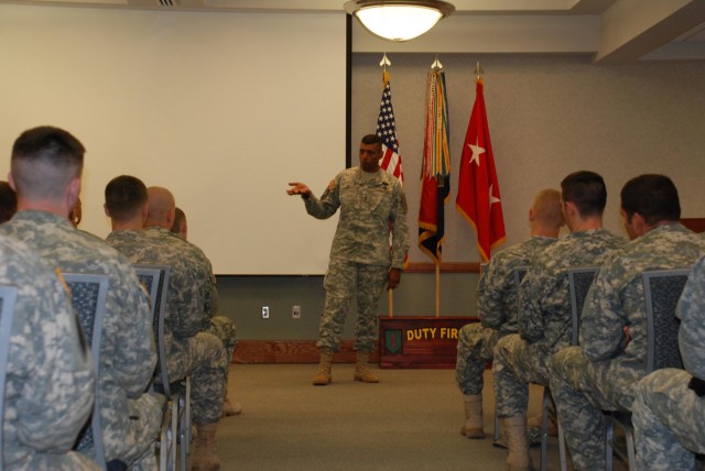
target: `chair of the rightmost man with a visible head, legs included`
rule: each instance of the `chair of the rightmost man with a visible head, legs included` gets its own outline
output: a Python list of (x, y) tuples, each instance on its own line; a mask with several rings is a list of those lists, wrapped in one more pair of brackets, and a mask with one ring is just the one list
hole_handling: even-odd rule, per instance
[[(647, 310), (647, 365), (646, 374), (662, 368), (683, 369), (679, 349), (680, 320), (675, 317), (683, 287), (690, 270), (657, 270), (641, 275), (643, 298)], [(631, 413), (610, 412), (607, 414), (606, 467), (612, 470), (612, 454), (616, 453), (634, 469), (634, 432)], [(615, 427), (625, 431), (626, 443), (615, 440)]]

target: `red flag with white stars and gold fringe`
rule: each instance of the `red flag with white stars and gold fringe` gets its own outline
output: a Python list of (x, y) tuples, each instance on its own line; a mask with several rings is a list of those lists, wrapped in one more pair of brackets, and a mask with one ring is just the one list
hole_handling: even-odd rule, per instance
[(463, 144), (455, 207), (475, 228), (480, 256), (488, 261), (491, 249), (505, 241), (506, 232), (481, 78), (477, 80), (475, 106)]

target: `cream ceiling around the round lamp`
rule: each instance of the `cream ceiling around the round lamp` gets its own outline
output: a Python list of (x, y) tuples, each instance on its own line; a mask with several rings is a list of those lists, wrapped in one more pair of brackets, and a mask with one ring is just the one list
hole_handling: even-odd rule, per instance
[[(346, 0), (0, 0), (210, 12), (335, 12)], [(705, 59), (705, 0), (449, 0), (455, 13), (408, 43), (357, 22), (354, 52), (593, 53), (598, 63)]]

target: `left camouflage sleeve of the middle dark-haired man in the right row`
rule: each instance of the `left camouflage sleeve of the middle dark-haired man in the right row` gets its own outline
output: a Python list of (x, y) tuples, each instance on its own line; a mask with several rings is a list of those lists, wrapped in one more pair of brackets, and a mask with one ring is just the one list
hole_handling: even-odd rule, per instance
[(519, 286), (519, 333), (530, 343), (545, 338), (542, 302), (550, 296), (550, 277), (543, 264), (532, 264)]

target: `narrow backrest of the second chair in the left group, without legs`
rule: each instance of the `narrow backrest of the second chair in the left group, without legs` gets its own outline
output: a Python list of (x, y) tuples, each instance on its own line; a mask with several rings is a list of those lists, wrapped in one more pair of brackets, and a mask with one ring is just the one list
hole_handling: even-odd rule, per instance
[(134, 265), (134, 271), (141, 283), (147, 287), (152, 308), (152, 328), (156, 344), (158, 371), (166, 397), (172, 396), (166, 371), (166, 346), (164, 344), (164, 322), (166, 314), (166, 295), (169, 292), (169, 276), (171, 269), (163, 265)]

